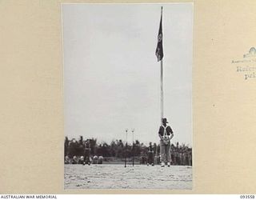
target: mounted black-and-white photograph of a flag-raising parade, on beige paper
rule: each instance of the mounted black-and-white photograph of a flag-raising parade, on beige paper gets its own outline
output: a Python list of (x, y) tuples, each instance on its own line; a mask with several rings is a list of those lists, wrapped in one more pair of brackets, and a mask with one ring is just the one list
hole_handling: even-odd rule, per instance
[(62, 3), (62, 57), (64, 189), (192, 190), (193, 3)]

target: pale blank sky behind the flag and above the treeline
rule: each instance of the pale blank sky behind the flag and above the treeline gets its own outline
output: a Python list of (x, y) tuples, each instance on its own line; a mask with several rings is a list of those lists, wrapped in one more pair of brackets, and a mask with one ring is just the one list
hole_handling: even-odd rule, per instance
[(65, 136), (159, 142), (161, 6), (164, 117), (192, 146), (192, 3), (62, 4)]

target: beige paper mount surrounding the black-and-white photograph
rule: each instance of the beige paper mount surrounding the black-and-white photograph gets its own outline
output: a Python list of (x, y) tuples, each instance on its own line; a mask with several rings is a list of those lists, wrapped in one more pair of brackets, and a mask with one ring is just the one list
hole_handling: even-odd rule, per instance
[(64, 190), (61, 2), (0, 2), (0, 193), (256, 193), (256, 2), (194, 1), (193, 190), (150, 191)]

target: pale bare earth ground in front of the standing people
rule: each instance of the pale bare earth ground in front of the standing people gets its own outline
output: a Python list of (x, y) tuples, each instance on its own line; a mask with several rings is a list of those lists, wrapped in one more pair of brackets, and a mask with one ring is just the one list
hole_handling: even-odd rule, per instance
[(192, 189), (191, 166), (65, 165), (65, 190)]

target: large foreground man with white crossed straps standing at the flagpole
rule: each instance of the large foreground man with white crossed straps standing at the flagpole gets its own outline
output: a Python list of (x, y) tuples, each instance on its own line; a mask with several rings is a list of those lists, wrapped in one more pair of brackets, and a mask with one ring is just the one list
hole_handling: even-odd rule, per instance
[(166, 125), (167, 119), (162, 118), (162, 126), (160, 126), (158, 131), (158, 136), (160, 138), (160, 154), (161, 154), (161, 166), (170, 166), (170, 140), (174, 137), (174, 132), (170, 126)]

